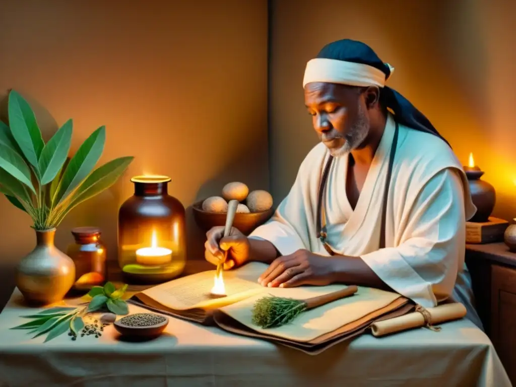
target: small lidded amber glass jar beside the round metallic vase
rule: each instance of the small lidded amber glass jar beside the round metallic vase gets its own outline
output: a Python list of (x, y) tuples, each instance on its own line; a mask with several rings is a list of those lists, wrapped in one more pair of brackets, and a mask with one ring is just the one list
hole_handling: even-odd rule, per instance
[(100, 241), (101, 231), (96, 227), (76, 227), (72, 229), (72, 235), (75, 241), (67, 250), (75, 263), (72, 290), (88, 292), (106, 281), (106, 248)]

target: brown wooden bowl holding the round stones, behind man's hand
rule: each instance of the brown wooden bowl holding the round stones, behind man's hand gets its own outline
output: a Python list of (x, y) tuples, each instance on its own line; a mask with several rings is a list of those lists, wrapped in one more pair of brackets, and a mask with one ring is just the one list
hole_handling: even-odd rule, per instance
[[(192, 206), (193, 218), (195, 218), (197, 225), (204, 231), (208, 231), (215, 226), (225, 225), (226, 213), (204, 211), (202, 209), (203, 201), (194, 203)], [(233, 220), (233, 227), (244, 235), (249, 235), (256, 227), (269, 220), (273, 213), (274, 208), (272, 207), (267, 211), (237, 213)]]

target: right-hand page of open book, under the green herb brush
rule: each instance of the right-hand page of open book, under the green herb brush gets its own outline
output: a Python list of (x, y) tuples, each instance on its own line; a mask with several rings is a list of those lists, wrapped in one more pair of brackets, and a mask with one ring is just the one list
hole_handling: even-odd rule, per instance
[(391, 304), (401, 297), (399, 294), (384, 292), (369, 287), (358, 287), (358, 292), (351, 297), (330, 302), (313, 310), (305, 311), (292, 322), (281, 327), (262, 329), (252, 323), (252, 308), (254, 302), (266, 294), (278, 297), (306, 299), (332, 293), (345, 287), (344, 285), (297, 287), (297, 288), (268, 288), (265, 293), (253, 295), (220, 310), (233, 317), (241, 324), (264, 334), (274, 335), (297, 342), (309, 342), (314, 338), (332, 332), (346, 324), (373, 313)]

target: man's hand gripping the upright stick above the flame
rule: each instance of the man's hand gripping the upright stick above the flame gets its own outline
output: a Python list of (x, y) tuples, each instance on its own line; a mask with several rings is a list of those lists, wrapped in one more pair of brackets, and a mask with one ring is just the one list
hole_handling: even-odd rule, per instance
[(204, 244), (204, 258), (217, 265), (224, 260), (224, 253), (228, 251), (228, 259), (224, 262), (224, 270), (243, 265), (249, 260), (249, 239), (234, 227), (231, 235), (223, 237), (224, 227), (213, 227), (206, 233)]

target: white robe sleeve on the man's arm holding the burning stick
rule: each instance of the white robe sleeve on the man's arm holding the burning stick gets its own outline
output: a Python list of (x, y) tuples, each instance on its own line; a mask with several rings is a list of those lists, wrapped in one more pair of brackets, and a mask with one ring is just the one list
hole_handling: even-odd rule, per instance
[(311, 227), (307, 214), (311, 214), (312, 206), (308, 180), (313, 153), (301, 163), (291, 190), (281, 201), (275, 214), (249, 235), (249, 238), (270, 241), (280, 255), (292, 254), (300, 249), (310, 250), (308, 233)]

